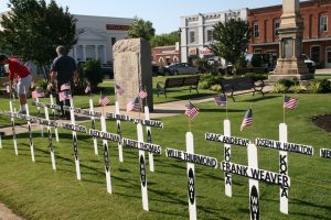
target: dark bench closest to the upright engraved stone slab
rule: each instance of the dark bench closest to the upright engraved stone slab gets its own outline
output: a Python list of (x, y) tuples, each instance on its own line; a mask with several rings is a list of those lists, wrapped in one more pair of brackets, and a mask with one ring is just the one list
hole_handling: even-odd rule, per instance
[(158, 89), (158, 97), (160, 94), (164, 94), (167, 98), (167, 92), (170, 92), (169, 88), (179, 88), (179, 87), (190, 87), (190, 94), (192, 89), (195, 89), (197, 91), (197, 84), (200, 80), (200, 76), (189, 76), (189, 77), (177, 77), (177, 78), (167, 78), (164, 82), (158, 82), (157, 89)]

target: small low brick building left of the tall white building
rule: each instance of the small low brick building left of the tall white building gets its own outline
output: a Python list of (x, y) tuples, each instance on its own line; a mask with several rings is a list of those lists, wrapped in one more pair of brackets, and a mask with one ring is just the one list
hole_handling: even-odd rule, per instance
[(152, 64), (167, 66), (172, 63), (180, 63), (179, 44), (175, 46), (158, 46), (151, 50)]

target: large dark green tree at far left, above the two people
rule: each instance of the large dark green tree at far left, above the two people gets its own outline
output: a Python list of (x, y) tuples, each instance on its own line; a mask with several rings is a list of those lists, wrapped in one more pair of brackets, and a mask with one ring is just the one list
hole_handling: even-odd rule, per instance
[(0, 50), (8, 54), (49, 65), (55, 48), (67, 51), (76, 44), (76, 20), (54, 0), (10, 0), (10, 12), (0, 22)]

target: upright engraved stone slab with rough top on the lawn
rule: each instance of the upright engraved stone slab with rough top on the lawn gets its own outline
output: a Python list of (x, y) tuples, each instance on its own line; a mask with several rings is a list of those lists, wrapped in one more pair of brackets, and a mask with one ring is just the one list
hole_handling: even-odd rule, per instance
[[(148, 96), (142, 102), (153, 110), (151, 52), (143, 38), (126, 38), (116, 42), (114, 52), (114, 78), (116, 99), (119, 109), (126, 110), (127, 103), (138, 97), (141, 90)], [(120, 91), (120, 92), (119, 92)]]

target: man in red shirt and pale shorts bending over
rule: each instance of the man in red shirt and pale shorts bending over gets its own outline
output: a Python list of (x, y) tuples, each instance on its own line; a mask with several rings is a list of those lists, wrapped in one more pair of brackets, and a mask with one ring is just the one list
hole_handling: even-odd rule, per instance
[(29, 72), (29, 69), (17, 58), (8, 58), (6, 55), (0, 55), (0, 65), (7, 65), (9, 67), (9, 79), (11, 81), (11, 88), (12, 90), (12, 81), (13, 78), (18, 77), (18, 95), (21, 103), (21, 111), (20, 113), (25, 114), (26, 109), (26, 92), (30, 89), (32, 76)]

